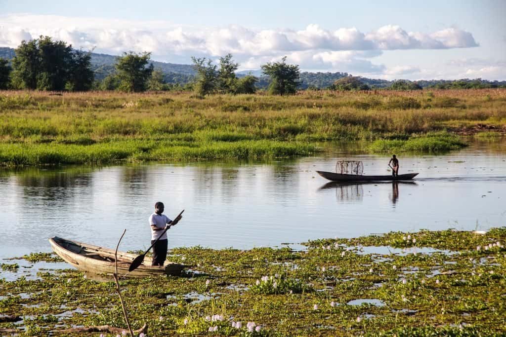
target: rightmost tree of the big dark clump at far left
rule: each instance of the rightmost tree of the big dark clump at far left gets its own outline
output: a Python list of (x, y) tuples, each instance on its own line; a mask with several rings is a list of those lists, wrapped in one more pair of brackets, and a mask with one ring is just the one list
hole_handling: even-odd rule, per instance
[(71, 91), (88, 91), (92, 88), (95, 79), (91, 69), (91, 52), (76, 50), (72, 56), (69, 81), (66, 88)]

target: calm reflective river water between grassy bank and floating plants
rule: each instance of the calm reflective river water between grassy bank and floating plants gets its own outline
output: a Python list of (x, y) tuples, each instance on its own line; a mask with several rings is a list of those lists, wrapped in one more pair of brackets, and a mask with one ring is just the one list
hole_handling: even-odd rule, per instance
[[(504, 139), (503, 139), (504, 140)], [(445, 154), (399, 156), (412, 183), (332, 184), (315, 170), (361, 160), (390, 174), (389, 156), (334, 146), (320, 157), (248, 163), (155, 163), (0, 170), (0, 258), (50, 252), (61, 236), (121, 250), (150, 245), (148, 217), (185, 209), (170, 247), (279, 247), (391, 230), (506, 226), (506, 141)]]

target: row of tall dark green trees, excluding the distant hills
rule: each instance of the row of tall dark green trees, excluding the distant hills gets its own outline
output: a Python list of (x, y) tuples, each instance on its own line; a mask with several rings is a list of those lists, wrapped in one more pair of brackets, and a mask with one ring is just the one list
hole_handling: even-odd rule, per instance
[[(220, 58), (219, 65), (206, 58), (192, 58), (196, 76), (184, 86), (167, 83), (165, 75), (154, 69), (151, 53), (123, 53), (116, 58), (113, 73), (102, 81), (95, 81), (91, 64), (91, 51), (72, 49), (64, 41), (53, 41), (49, 36), (23, 40), (15, 50), (12, 64), (0, 58), (0, 89), (31, 89), (51, 91), (121, 90), (194, 90), (203, 97), (213, 93), (254, 93), (259, 79), (252, 75), (237, 77), (239, 64), (232, 55)], [(269, 76), (268, 91), (272, 94), (292, 94), (300, 84), (298, 65), (280, 62), (262, 65)]]

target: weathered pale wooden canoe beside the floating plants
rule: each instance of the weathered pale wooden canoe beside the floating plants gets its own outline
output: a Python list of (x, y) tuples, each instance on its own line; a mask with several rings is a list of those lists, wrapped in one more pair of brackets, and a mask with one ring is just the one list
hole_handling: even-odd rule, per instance
[[(58, 256), (70, 263), (77, 269), (97, 274), (114, 273), (114, 250), (83, 244), (81, 242), (67, 240), (58, 236), (49, 239)], [(129, 272), (130, 263), (137, 257), (136, 254), (125, 252), (117, 253), (118, 274), (128, 277), (142, 277), (153, 275), (179, 275), (185, 267), (182, 264), (165, 261), (164, 266), (151, 266), (151, 258), (144, 259), (136, 270)]]

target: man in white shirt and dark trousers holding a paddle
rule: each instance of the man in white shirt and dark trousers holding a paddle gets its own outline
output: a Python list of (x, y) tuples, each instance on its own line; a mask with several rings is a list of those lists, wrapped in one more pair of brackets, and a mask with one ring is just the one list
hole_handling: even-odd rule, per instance
[[(163, 232), (167, 224), (171, 224), (172, 220), (163, 213), (165, 206), (163, 203), (155, 204), (155, 212), (149, 217), (149, 225), (151, 226), (151, 245), (153, 246), (153, 263), (152, 266), (163, 266), (167, 258), (168, 239), (167, 232)], [(179, 220), (179, 219), (178, 219)], [(163, 233), (163, 234), (162, 234)], [(156, 239), (158, 242), (155, 243)]]

